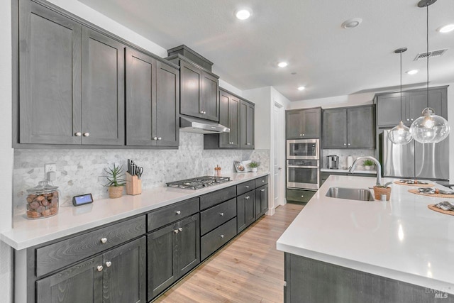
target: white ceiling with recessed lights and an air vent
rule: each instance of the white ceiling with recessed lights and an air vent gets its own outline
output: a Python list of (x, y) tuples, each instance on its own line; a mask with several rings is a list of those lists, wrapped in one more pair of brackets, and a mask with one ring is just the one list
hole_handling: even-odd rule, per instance
[[(418, 0), (79, 0), (163, 48), (187, 45), (214, 62), (238, 89), (272, 86), (291, 101), (398, 89), (399, 55), (404, 87), (426, 82), (426, 9)], [(253, 16), (239, 21), (236, 9)], [(358, 28), (341, 28), (360, 17)], [(429, 7), (429, 50), (449, 48), (430, 61), (431, 86), (454, 82), (454, 1)], [(277, 62), (289, 62), (278, 68)], [(292, 75), (292, 73), (296, 73)], [(415, 84), (415, 85), (413, 85)], [(306, 86), (303, 92), (297, 91)]]

